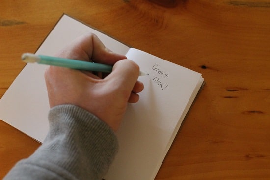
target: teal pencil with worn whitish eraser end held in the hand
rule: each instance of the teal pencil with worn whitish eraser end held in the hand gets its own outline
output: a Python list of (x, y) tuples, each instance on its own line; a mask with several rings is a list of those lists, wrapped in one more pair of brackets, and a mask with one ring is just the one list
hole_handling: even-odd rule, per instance
[[(67, 67), (67, 68), (77, 69), (77, 70), (107, 72), (107, 73), (110, 73), (112, 71), (112, 66), (107, 65), (107, 64), (86, 62), (82, 60), (58, 58), (58, 57), (52, 57), (52, 56), (35, 55), (31, 53), (24, 53), (22, 55), (22, 60), (26, 63), (37, 62), (39, 64)], [(146, 74), (140, 71), (139, 76), (144, 76), (144, 75), (149, 75), (149, 74)]]

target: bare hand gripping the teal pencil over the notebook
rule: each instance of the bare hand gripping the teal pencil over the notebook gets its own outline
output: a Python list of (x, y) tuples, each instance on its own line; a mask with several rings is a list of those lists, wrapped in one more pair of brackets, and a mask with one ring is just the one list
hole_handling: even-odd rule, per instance
[(91, 72), (50, 66), (45, 72), (50, 107), (74, 104), (93, 113), (114, 131), (120, 125), (127, 103), (139, 100), (143, 84), (137, 81), (139, 67), (132, 60), (109, 51), (94, 34), (85, 34), (56, 56), (113, 65), (104, 79)]

